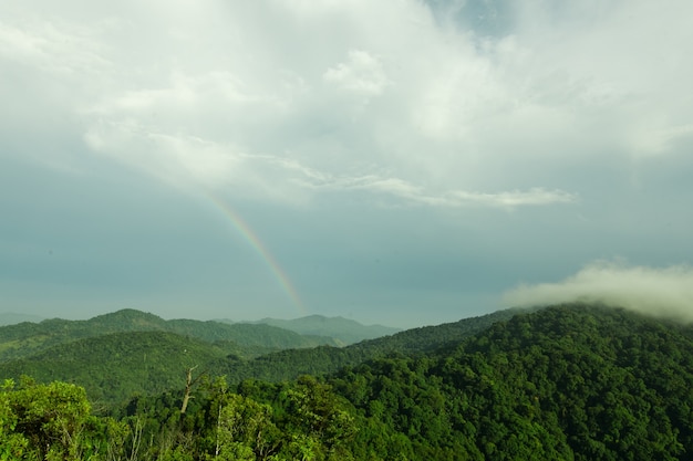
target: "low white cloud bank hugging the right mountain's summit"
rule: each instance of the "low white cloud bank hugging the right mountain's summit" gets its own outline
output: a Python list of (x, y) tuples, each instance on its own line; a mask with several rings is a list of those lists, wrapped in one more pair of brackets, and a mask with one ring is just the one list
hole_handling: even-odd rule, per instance
[(521, 285), (505, 295), (509, 306), (573, 301), (601, 302), (658, 317), (693, 322), (693, 268), (594, 262), (561, 282)]

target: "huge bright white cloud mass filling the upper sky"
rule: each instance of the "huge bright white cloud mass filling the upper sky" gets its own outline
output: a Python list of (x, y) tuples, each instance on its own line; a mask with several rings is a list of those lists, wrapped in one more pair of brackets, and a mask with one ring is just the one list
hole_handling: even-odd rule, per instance
[[(386, 170), (360, 190), (445, 206), (571, 202), (555, 191), (570, 175), (557, 163), (665, 155), (690, 138), (687, 2), (523, 3), (496, 38), (436, 23), (414, 0), (44, 6), (0, 22), (0, 65), (28, 112), (74, 114), (74, 137), (100, 151), (136, 127), (138, 154), (116, 157), (149, 171), (182, 157), (189, 180), (218, 181), (227, 160), (149, 153), (148, 134), (332, 178)], [(292, 184), (285, 172), (257, 193)]]

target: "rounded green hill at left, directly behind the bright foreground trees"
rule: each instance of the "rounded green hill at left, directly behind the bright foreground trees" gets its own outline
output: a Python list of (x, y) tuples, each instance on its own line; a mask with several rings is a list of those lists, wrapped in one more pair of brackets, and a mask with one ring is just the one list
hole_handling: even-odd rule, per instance
[(190, 367), (226, 354), (232, 344), (211, 345), (168, 332), (113, 333), (61, 344), (32, 357), (0, 365), (3, 378), (28, 375), (39, 383), (75, 383), (101, 405), (125, 402), (133, 395), (154, 395), (185, 386)]

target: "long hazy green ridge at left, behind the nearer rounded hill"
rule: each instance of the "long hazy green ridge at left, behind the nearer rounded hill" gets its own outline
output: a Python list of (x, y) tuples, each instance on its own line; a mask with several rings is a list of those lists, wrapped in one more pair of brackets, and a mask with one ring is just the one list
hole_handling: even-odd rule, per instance
[(169, 332), (206, 342), (234, 342), (249, 355), (282, 348), (314, 347), (338, 343), (329, 337), (302, 336), (270, 325), (225, 324), (189, 319), (165, 321), (154, 314), (122, 310), (87, 321), (45, 319), (0, 327), (0, 362), (28, 357), (73, 340), (125, 332)]

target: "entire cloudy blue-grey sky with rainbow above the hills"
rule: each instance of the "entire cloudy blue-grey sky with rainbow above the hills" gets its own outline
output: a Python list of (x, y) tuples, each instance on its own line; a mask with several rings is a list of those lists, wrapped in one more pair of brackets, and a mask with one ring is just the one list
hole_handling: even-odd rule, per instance
[(0, 312), (693, 310), (687, 0), (1, 8)]

